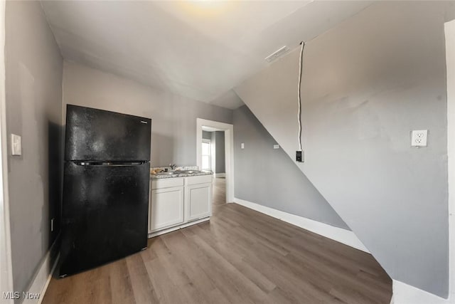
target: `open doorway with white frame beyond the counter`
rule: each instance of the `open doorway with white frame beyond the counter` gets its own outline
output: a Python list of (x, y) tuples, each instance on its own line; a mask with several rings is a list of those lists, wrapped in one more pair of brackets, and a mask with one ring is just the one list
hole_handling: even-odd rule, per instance
[(215, 204), (230, 203), (234, 199), (234, 127), (224, 122), (201, 118), (196, 119), (196, 125), (198, 167), (201, 169), (210, 167), (214, 172)]

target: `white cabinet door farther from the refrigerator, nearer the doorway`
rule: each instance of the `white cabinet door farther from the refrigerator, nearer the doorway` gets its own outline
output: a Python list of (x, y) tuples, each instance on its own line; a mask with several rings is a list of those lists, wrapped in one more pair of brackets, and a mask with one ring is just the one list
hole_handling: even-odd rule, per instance
[(212, 215), (212, 184), (193, 184), (186, 187), (185, 221)]

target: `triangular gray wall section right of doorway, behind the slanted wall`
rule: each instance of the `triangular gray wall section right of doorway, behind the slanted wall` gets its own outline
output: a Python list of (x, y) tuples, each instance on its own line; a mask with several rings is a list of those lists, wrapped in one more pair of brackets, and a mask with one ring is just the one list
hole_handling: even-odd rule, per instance
[[(245, 143), (245, 149), (240, 148)], [(246, 105), (234, 110), (235, 197), (349, 229)]]

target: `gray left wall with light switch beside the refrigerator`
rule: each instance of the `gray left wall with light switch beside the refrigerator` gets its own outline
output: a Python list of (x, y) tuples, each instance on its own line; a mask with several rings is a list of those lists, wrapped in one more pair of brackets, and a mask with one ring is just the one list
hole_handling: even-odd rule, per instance
[[(63, 59), (38, 1), (6, 2), (6, 130), (14, 290), (27, 290), (58, 234)], [(55, 217), (55, 231), (50, 219)]]

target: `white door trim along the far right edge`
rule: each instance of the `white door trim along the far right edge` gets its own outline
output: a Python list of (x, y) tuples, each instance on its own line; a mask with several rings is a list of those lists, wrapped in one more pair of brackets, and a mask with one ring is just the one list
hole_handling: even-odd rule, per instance
[(447, 169), (449, 177), (449, 302), (455, 303), (455, 20), (444, 24), (447, 81)]

